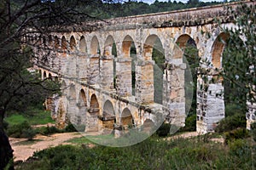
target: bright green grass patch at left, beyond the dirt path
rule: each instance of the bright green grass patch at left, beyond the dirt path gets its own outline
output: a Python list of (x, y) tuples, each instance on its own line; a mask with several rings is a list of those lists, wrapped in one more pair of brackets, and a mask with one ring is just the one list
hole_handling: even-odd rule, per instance
[(31, 109), (30, 111), (22, 114), (10, 114), (5, 118), (5, 121), (8, 122), (10, 126), (24, 121), (29, 122), (31, 125), (55, 123), (55, 121), (50, 117), (50, 111), (42, 111), (38, 109)]

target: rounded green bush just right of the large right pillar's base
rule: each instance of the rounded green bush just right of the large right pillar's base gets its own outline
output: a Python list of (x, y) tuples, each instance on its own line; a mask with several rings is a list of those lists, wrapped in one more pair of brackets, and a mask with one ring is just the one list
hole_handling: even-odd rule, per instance
[(217, 133), (224, 133), (236, 129), (237, 127), (245, 128), (247, 125), (246, 116), (243, 114), (235, 114), (227, 116), (218, 123), (215, 128)]

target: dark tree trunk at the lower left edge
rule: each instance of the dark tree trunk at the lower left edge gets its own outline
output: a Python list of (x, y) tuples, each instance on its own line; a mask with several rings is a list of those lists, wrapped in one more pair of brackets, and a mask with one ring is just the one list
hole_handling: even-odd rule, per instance
[(9, 170), (14, 169), (13, 166), (13, 150), (9, 144), (9, 138), (3, 130), (4, 111), (0, 109), (0, 170), (9, 166)]

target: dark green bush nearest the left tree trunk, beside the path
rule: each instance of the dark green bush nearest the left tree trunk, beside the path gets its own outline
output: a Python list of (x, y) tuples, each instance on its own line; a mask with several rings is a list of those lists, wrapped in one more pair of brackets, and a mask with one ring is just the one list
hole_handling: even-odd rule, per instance
[(7, 129), (7, 134), (13, 138), (33, 139), (33, 137), (36, 135), (36, 131), (32, 129), (32, 127), (28, 122), (25, 121), (25, 122), (21, 122), (19, 124), (10, 126)]

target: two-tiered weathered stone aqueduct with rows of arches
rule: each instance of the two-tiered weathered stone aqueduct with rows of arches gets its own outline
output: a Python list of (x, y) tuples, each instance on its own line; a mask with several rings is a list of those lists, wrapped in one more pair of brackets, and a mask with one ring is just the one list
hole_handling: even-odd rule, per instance
[[(251, 2), (244, 2), (251, 3)], [(237, 3), (229, 3), (236, 6)], [(219, 26), (214, 22), (218, 19)], [(158, 113), (166, 121), (183, 126), (185, 120), (185, 91), (183, 48), (193, 39), (201, 60), (212, 65), (200, 65), (197, 78), (197, 132), (211, 132), (224, 118), (223, 80), (217, 79), (215, 68), (221, 68), (224, 39), (221, 27), (232, 27), (232, 18), (224, 5), (190, 8), (160, 14), (144, 14), (95, 22), (88, 26), (73, 26), (52, 31), (49, 37), (37, 38), (39, 59), (35, 65), (42, 78), (59, 77), (62, 96), (53, 102), (53, 115), (59, 127), (68, 121), (85, 125), (85, 132), (102, 132), (122, 127), (150, 127), (159, 122)], [(165, 55), (163, 95), (161, 103), (154, 102), (154, 42), (160, 41)], [(135, 89), (132, 89), (131, 45), (136, 48)], [(113, 56), (113, 46), (117, 56)], [(47, 56), (47, 57), (44, 57)], [(116, 66), (113, 67), (113, 60)], [(113, 70), (116, 70), (115, 82)], [(207, 72), (207, 73), (206, 73)], [(208, 77), (208, 81), (203, 81)], [(253, 121), (253, 106), (247, 122)], [(255, 107), (255, 106), (254, 106)]]

